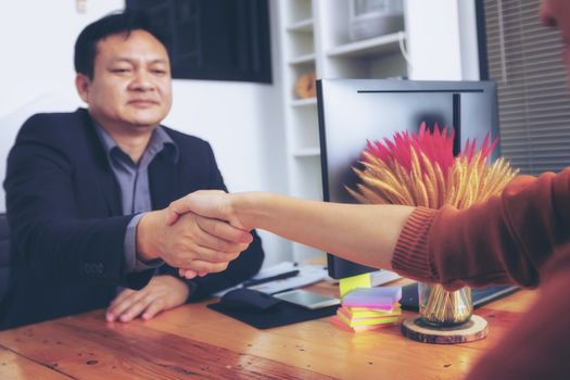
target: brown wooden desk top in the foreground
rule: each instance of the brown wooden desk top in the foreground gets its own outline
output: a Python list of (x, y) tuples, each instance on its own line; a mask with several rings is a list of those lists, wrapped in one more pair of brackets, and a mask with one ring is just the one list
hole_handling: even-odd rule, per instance
[(351, 333), (329, 318), (262, 331), (206, 308), (212, 301), (130, 324), (96, 311), (0, 332), (0, 379), (460, 379), (534, 296), (478, 309), (489, 337), (458, 345), (414, 342), (400, 327)]

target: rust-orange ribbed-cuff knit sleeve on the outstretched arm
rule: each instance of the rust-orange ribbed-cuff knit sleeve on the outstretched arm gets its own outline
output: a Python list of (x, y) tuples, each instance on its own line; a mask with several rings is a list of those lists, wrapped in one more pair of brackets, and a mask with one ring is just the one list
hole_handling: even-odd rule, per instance
[(554, 255), (570, 252), (570, 168), (519, 176), (501, 195), (466, 210), (418, 207), (394, 251), (401, 275), (447, 288), (534, 287)]

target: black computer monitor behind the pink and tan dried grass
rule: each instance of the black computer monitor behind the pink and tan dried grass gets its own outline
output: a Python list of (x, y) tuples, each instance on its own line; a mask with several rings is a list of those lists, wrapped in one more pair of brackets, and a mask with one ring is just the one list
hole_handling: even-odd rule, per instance
[[(496, 87), (491, 81), (414, 81), (382, 79), (317, 80), (324, 200), (357, 203), (355, 189), (366, 141), (391, 139), (394, 132), (417, 132), (422, 122), (455, 130), (454, 153), (467, 139), (497, 137)], [(495, 149), (491, 160), (498, 156)], [(378, 231), (382, 233), (382, 231)], [(378, 270), (328, 254), (332, 278)]]

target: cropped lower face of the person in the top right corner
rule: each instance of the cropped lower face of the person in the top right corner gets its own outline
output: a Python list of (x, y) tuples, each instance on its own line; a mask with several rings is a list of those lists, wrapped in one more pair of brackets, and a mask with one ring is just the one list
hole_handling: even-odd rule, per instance
[(543, 0), (541, 21), (546, 26), (557, 27), (562, 38), (562, 59), (570, 80), (570, 0)]

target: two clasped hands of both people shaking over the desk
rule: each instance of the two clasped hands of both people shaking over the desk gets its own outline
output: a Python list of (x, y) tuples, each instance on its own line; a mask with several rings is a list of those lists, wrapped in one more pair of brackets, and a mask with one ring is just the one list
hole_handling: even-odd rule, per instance
[(139, 259), (162, 258), (188, 279), (225, 270), (253, 240), (232, 197), (201, 190), (145, 214), (137, 227)]

